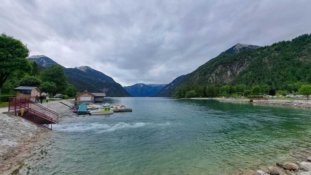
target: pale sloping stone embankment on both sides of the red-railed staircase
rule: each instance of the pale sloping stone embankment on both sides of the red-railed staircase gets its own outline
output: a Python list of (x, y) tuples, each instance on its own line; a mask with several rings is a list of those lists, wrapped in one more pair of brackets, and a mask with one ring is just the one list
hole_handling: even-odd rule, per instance
[[(63, 100), (68, 106), (73, 105), (72, 100)], [(43, 103), (42, 106), (49, 108), (61, 115), (70, 109), (68, 106), (53, 101)], [(30, 148), (37, 138), (49, 130), (40, 127), (19, 116), (0, 113), (0, 174), (6, 171), (16, 162), (16, 155)]]

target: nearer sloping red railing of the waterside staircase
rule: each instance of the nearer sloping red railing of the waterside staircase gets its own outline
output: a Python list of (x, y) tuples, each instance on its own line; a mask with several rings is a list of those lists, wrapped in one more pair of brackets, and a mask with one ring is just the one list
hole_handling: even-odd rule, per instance
[(26, 120), (32, 121), (50, 130), (52, 130), (52, 124), (55, 123), (51, 117), (35, 111), (19, 102), (15, 102), (15, 115), (23, 117)]

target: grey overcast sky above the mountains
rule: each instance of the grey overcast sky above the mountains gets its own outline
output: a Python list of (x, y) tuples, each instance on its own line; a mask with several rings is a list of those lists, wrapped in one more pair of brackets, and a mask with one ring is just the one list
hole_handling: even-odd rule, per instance
[(65, 67), (122, 86), (170, 83), (231, 46), (311, 32), (310, 0), (1, 0), (0, 32)]

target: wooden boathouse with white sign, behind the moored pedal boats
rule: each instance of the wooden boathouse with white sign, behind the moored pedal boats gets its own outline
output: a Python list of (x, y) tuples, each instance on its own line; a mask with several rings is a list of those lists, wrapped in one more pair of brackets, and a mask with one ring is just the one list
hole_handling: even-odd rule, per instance
[(104, 97), (106, 97), (105, 93), (84, 91), (77, 95), (77, 103), (101, 103), (104, 101)]

